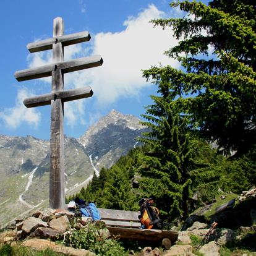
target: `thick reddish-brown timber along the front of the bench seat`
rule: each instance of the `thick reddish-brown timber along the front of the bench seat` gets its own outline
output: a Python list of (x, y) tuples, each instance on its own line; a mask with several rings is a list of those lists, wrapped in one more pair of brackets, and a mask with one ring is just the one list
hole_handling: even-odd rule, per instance
[(135, 228), (116, 228), (108, 227), (111, 236), (121, 239), (138, 239), (161, 242), (164, 238), (171, 240), (172, 244), (177, 241), (178, 233), (176, 231), (158, 230), (158, 229), (135, 229)]

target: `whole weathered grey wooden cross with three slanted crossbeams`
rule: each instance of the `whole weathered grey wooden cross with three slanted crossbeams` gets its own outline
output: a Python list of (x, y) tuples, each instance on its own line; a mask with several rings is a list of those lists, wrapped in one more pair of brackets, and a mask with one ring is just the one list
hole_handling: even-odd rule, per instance
[(55, 209), (65, 208), (66, 206), (64, 188), (64, 102), (93, 95), (90, 87), (65, 91), (64, 73), (98, 67), (103, 64), (100, 55), (64, 61), (64, 46), (88, 40), (90, 40), (88, 32), (64, 35), (64, 22), (61, 17), (57, 17), (53, 21), (53, 38), (27, 45), (30, 53), (53, 49), (53, 64), (20, 70), (14, 74), (19, 82), (41, 77), (52, 77), (51, 93), (27, 98), (23, 103), (27, 108), (51, 105), (49, 206)]

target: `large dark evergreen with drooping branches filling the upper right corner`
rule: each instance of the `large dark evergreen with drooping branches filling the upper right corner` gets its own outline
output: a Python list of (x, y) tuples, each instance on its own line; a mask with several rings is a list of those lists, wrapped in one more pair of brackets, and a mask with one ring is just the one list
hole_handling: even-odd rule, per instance
[[(184, 113), (194, 129), (237, 155), (256, 142), (256, 6), (254, 0), (176, 1), (189, 15), (153, 20), (171, 28), (179, 41), (166, 51), (186, 72), (171, 66), (151, 67), (144, 77), (165, 79), (173, 95), (182, 97)], [(213, 56), (208, 56), (209, 49)]]

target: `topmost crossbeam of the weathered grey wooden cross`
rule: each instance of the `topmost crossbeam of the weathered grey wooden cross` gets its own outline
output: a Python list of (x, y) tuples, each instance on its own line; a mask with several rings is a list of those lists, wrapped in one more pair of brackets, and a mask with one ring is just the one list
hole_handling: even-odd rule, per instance
[(74, 45), (75, 43), (82, 43), (91, 39), (90, 34), (87, 31), (74, 33), (70, 35), (56, 36), (46, 40), (36, 41), (27, 45), (30, 53), (36, 53), (37, 51), (45, 51), (53, 49), (55, 43), (62, 43), (62, 46)]

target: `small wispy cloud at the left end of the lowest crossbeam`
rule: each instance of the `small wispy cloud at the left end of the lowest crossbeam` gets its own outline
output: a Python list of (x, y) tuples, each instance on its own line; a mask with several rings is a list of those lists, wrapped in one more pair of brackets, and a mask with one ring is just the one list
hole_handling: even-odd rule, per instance
[(22, 122), (28, 122), (35, 127), (38, 126), (41, 114), (36, 109), (26, 108), (25, 105), (23, 105), (23, 100), (30, 96), (32, 95), (28, 93), (25, 88), (20, 89), (18, 91), (15, 106), (13, 108), (6, 108), (0, 112), (0, 119), (4, 121), (6, 126), (15, 129)]

